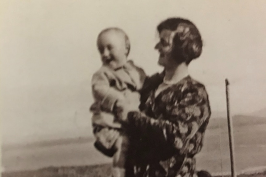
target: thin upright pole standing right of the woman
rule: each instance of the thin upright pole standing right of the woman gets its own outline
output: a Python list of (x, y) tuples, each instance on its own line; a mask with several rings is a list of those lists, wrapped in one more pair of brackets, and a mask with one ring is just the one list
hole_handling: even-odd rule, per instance
[(230, 104), (229, 104), (229, 82), (228, 79), (225, 79), (226, 85), (226, 103), (227, 103), (227, 123), (228, 123), (228, 134), (229, 134), (229, 147), (230, 147), (230, 159), (231, 159), (231, 176), (236, 177), (235, 173), (235, 145), (234, 145), (234, 136), (233, 136), (233, 123), (230, 116)]

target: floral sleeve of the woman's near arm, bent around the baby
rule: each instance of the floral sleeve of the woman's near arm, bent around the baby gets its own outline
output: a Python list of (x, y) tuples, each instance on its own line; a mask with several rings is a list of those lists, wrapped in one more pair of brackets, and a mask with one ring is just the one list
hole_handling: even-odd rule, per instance
[[(210, 105), (204, 86), (193, 86), (181, 93), (181, 99), (166, 105), (163, 119), (154, 119), (140, 112), (128, 113), (128, 125), (154, 144), (168, 144), (186, 151), (189, 140), (210, 118)], [(162, 110), (163, 111), (163, 110)]]

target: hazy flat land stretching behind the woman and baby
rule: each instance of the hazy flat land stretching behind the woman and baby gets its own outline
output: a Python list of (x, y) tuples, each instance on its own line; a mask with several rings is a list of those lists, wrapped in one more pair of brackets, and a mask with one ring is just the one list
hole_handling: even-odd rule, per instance
[[(265, 166), (266, 119), (236, 116), (233, 118), (233, 123), (237, 172)], [(226, 119), (211, 119), (206, 131), (204, 147), (197, 155), (197, 170), (204, 169), (212, 173), (230, 172), (227, 132)], [(4, 148), (2, 164), (6, 172), (2, 175), (102, 177), (110, 173), (110, 162), (110, 158), (94, 149), (92, 139), (40, 142), (22, 147)]]

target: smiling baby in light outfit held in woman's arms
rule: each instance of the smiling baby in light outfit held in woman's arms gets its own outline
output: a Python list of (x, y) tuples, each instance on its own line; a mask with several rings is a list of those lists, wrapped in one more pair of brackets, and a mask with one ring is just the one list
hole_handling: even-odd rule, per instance
[(113, 157), (112, 176), (125, 176), (128, 138), (121, 124), (116, 122), (114, 106), (123, 101), (136, 109), (139, 90), (146, 78), (143, 69), (127, 60), (130, 42), (119, 28), (108, 28), (98, 35), (97, 46), (102, 66), (92, 77), (94, 103), (92, 125), (96, 137), (94, 146), (103, 154)]

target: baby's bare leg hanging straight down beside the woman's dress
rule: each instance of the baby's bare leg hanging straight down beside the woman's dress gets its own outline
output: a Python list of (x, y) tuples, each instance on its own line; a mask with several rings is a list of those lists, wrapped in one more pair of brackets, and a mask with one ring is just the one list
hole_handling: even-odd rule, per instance
[(128, 151), (128, 137), (121, 134), (115, 143), (115, 147), (117, 151), (113, 157), (112, 176), (124, 177)]

